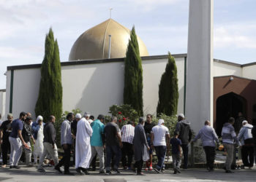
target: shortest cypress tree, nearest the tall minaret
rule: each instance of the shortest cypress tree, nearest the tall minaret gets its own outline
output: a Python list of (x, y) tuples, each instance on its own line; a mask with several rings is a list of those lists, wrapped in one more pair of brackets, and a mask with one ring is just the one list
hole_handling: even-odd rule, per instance
[(165, 73), (162, 74), (158, 94), (157, 115), (166, 114), (167, 116), (173, 116), (176, 114), (178, 106), (177, 67), (170, 52), (168, 52), (168, 63)]

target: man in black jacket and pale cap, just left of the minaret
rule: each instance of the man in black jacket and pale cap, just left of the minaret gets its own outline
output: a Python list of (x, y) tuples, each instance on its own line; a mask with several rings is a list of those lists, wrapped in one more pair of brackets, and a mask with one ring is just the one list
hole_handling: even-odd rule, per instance
[(190, 122), (185, 120), (184, 114), (178, 114), (178, 123), (176, 124), (176, 132), (179, 132), (178, 138), (181, 139), (182, 153), (184, 157), (183, 168), (187, 169), (189, 159), (189, 142), (192, 138), (192, 131), (190, 129)]

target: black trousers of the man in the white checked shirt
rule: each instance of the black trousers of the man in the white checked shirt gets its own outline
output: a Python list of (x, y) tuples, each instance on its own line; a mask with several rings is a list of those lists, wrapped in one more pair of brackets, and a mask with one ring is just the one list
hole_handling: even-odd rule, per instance
[[(133, 149), (132, 144), (123, 142), (123, 148), (121, 149), (121, 162), (123, 167), (131, 167), (132, 164)], [(128, 162), (127, 162), (128, 158)]]

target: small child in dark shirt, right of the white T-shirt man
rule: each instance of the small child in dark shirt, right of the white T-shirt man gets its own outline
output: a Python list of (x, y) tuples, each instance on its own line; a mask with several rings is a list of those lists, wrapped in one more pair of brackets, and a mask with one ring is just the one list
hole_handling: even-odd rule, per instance
[(173, 170), (176, 174), (181, 173), (179, 170), (181, 166), (181, 140), (178, 138), (179, 133), (174, 132), (173, 138), (170, 139), (170, 144), (172, 145), (172, 157), (173, 157)]

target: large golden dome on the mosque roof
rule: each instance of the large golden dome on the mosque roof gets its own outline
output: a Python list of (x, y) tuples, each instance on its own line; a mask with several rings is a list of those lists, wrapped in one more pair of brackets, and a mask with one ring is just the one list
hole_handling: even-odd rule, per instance
[[(108, 19), (99, 25), (85, 31), (75, 41), (69, 60), (91, 60), (108, 58), (109, 35), (111, 35), (110, 58), (124, 58), (127, 52), (130, 31), (113, 19)], [(140, 56), (148, 55), (148, 50), (138, 38)]]

